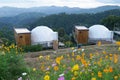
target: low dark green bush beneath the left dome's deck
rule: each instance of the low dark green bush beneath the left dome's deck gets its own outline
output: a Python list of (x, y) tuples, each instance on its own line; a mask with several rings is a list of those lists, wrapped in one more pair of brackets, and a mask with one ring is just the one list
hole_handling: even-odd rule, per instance
[(25, 52), (35, 52), (35, 51), (41, 51), (42, 45), (27, 45), (22, 47)]

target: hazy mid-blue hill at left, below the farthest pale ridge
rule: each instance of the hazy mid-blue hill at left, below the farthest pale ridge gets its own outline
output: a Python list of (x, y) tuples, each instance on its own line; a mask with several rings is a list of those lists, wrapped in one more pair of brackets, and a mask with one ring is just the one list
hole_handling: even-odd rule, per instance
[(12, 24), (13, 26), (22, 26), (24, 24), (33, 23), (38, 18), (44, 17), (44, 16), (46, 15), (38, 12), (21, 13), (13, 17), (1, 17), (0, 22)]

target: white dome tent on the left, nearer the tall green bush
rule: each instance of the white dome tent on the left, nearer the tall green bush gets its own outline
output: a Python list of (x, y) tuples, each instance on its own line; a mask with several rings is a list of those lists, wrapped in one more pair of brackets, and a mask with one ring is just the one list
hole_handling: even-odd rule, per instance
[(58, 40), (57, 32), (53, 32), (47, 26), (37, 26), (31, 31), (31, 44), (42, 44), (44, 47), (51, 47), (53, 40)]

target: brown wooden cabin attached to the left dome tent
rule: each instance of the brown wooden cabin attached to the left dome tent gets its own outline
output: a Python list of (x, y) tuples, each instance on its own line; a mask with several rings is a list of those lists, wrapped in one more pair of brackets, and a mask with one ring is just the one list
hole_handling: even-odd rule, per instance
[(18, 46), (31, 45), (31, 33), (27, 28), (14, 28), (14, 36)]

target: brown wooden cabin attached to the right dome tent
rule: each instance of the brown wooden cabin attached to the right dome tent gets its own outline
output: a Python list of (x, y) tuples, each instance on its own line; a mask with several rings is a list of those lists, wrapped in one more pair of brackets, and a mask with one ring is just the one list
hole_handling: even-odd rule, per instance
[(75, 26), (75, 39), (77, 44), (88, 43), (88, 28), (85, 26)]

